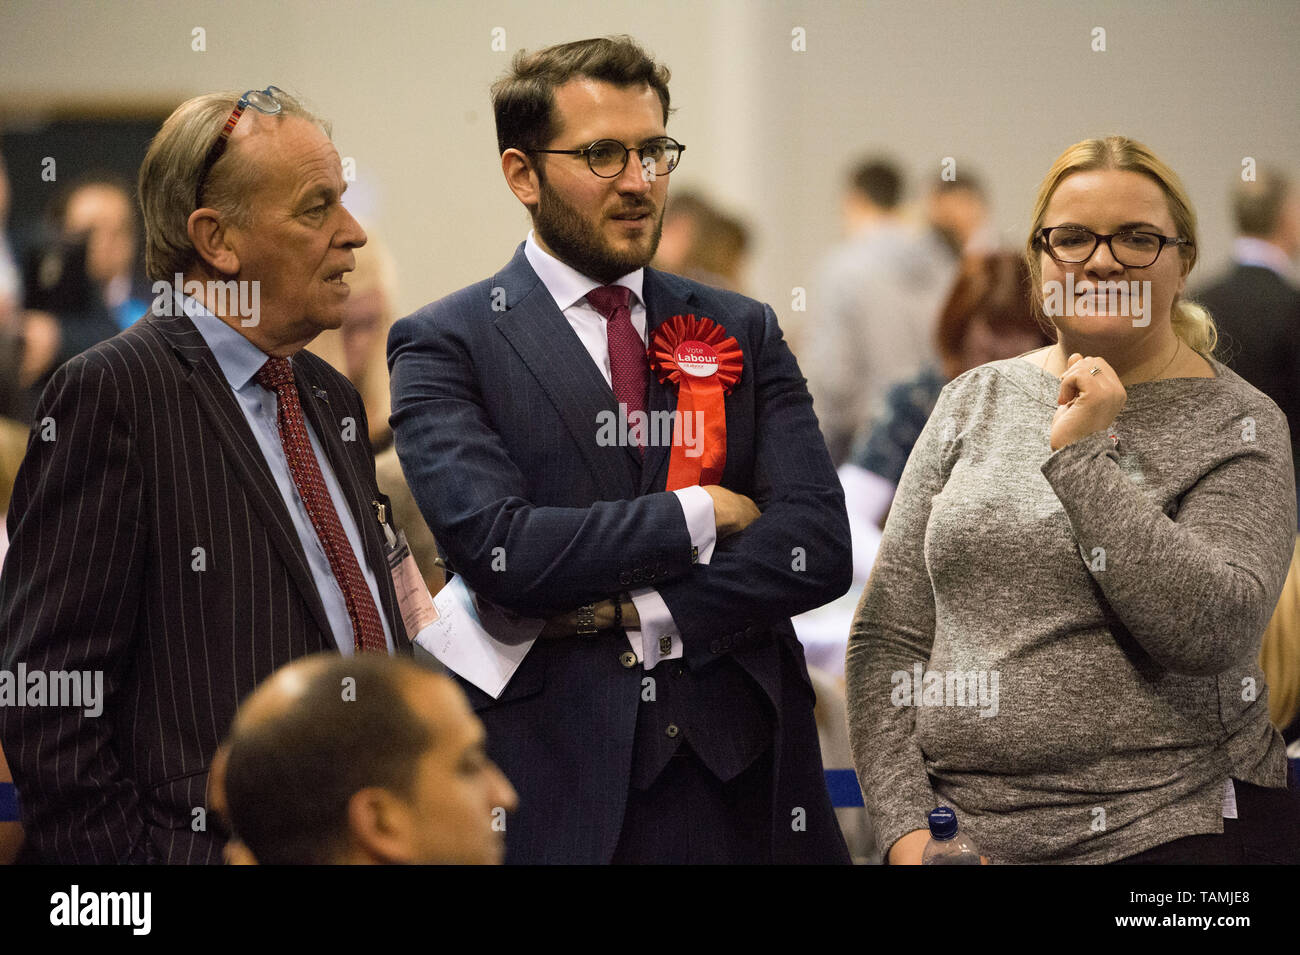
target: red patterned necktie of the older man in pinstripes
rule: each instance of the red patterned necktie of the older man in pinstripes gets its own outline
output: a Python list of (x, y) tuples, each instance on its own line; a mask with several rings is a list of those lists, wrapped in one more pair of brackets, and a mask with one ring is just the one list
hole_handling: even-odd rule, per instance
[(320, 538), (325, 556), (329, 557), (334, 579), (343, 591), (356, 650), (386, 654), (389, 646), (384, 638), (384, 624), (380, 622), (370, 589), (356, 563), (356, 554), (334, 511), (334, 502), (330, 500), (329, 489), (325, 487), (311, 438), (307, 437), (303, 407), (298, 403), (298, 388), (294, 386), (294, 368), (289, 364), (289, 359), (266, 359), (266, 364), (257, 370), (256, 381), (268, 391), (274, 391), (280, 399), (276, 417), (280, 422), (280, 442), (285, 446), (285, 459), (289, 461), (289, 473), (294, 476), (298, 494), (312, 518), (312, 526), (316, 528), (316, 537)]

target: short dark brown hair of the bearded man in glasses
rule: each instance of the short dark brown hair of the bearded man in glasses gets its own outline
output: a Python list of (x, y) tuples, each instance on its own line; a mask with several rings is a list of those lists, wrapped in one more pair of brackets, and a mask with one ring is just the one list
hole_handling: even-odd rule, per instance
[(647, 84), (668, 122), (668, 68), (656, 64), (630, 36), (575, 40), (536, 52), (521, 49), (511, 70), (491, 86), (497, 149), (540, 149), (559, 134), (555, 90), (575, 77), (614, 86)]

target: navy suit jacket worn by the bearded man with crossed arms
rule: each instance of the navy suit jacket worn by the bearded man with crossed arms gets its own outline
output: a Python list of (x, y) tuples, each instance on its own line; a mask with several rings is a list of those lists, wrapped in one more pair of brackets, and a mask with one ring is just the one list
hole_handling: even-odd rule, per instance
[[(720, 483), (762, 516), (707, 565), (693, 563), (681, 507), (664, 490), (670, 448), (649, 447), (642, 464), (636, 448), (598, 442), (614, 392), (523, 246), (498, 274), (394, 325), (390, 420), (403, 472), (451, 568), (489, 600), (549, 616), (655, 587), (682, 639), (693, 748), (727, 780), (772, 747), (774, 859), (846, 860), (789, 621), (852, 576), (844, 495), (812, 401), (767, 305), (653, 269), (644, 295), (649, 335), (693, 313), (744, 352), (725, 399)], [(649, 409), (675, 405), (676, 390), (651, 381)], [(612, 858), (629, 781), (658, 768), (633, 765), (645, 681), (682, 667), (628, 667), (627, 650), (621, 631), (538, 641), (499, 700), (464, 685), (520, 794), (508, 860)], [(638, 752), (653, 759), (651, 748)]]

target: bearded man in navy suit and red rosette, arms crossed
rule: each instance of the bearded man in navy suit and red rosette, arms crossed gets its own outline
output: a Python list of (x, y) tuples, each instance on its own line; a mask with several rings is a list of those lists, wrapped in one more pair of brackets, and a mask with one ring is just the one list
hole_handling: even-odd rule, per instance
[(394, 326), (396, 450), (451, 570), (547, 618), (497, 698), (463, 681), (507, 861), (848, 861), (789, 621), (848, 589), (844, 496), (772, 309), (646, 268), (667, 81), (610, 38), (493, 87), (533, 231)]

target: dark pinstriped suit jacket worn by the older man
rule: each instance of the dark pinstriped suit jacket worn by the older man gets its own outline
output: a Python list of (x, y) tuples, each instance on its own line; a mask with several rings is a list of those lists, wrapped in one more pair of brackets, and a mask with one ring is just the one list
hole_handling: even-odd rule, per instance
[[(292, 363), (410, 652), (360, 398), (315, 355)], [(358, 440), (343, 440), (347, 417)], [(205, 787), (237, 706), (277, 667), (338, 644), (274, 478), (188, 317), (146, 316), (55, 373), (9, 535), (0, 661), (103, 670), (107, 698), (98, 717), (0, 707), (30, 845), (60, 863), (221, 861)]]

